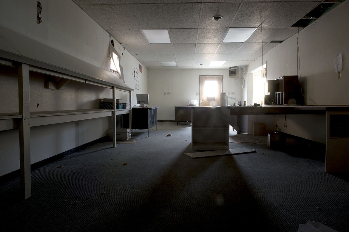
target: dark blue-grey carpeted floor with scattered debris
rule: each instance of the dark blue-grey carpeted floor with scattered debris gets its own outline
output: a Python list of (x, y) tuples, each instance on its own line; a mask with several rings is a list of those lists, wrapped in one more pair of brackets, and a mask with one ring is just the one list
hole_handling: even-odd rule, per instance
[(2, 231), (296, 232), (308, 220), (349, 231), (348, 179), (325, 173), (322, 148), (230, 143), (257, 152), (192, 159), (190, 126), (132, 136), (32, 171), (25, 201), (19, 178), (1, 185)]

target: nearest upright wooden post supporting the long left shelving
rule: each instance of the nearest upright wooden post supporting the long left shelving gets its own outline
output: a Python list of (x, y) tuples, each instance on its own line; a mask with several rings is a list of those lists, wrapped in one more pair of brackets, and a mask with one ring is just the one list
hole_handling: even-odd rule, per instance
[(22, 115), (19, 128), (21, 194), (27, 199), (31, 196), (29, 65), (27, 64), (20, 64), (18, 68), (18, 99), (18, 112)]

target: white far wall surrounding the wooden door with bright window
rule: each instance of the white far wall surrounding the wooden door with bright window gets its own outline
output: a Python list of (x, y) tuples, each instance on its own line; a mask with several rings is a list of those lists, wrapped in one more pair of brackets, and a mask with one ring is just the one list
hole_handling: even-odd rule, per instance
[[(228, 69), (148, 69), (149, 105), (159, 106), (158, 120), (174, 120), (174, 106), (185, 106), (191, 100), (199, 101), (196, 94), (199, 94), (200, 75), (223, 75), (223, 92), (236, 98), (229, 99), (228, 104), (244, 102), (243, 80), (229, 78)], [(232, 92), (235, 94), (232, 95)]]

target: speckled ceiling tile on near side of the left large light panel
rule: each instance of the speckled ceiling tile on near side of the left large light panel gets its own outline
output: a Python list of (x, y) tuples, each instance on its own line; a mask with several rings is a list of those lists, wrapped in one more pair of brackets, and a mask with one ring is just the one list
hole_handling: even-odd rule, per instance
[[(161, 4), (125, 5), (140, 29), (167, 29), (166, 17)], [(131, 18), (125, 21), (132, 21)]]

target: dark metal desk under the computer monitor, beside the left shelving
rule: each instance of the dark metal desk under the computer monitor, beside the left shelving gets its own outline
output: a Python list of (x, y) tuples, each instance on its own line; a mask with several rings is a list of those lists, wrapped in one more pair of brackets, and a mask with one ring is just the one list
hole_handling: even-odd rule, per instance
[[(157, 108), (159, 106), (132, 107), (131, 110), (131, 129), (148, 129), (156, 126), (157, 130)], [(128, 125), (128, 118), (123, 117), (123, 122)]]

